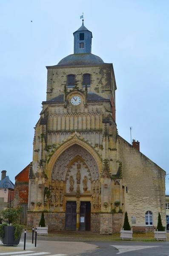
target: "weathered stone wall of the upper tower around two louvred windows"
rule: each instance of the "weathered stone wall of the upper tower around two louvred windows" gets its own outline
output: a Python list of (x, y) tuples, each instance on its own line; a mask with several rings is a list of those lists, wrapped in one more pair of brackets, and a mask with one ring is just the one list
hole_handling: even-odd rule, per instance
[[(67, 76), (74, 74), (77, 85), (80, 89), (83, 88), (83, 74), (91, 74), (91, 87), (89, 92), (97, 93), (98, 95), (109, 98), (111, 90), (111, 67), (112, 64), (103, 65), (87, 65), (83, 67), (48, 67), (47, 77), (47, 99), (52, 99), (63, 93), (64, 85), (67, 84)], [(109, 92), (106, 92), (109, 91)], [(110, 99), (110, 98), (109, 98)]]

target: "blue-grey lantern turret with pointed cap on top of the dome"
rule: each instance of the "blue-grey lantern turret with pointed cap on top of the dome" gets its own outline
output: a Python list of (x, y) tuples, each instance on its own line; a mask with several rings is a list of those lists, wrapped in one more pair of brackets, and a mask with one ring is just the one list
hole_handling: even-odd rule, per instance
[(73, 33), (74, 54), (75, 53), (91, 53), (91, 50), (92, 50), (92, 32), (86, 29), (83, 21), (82, 21), (82, 26)]

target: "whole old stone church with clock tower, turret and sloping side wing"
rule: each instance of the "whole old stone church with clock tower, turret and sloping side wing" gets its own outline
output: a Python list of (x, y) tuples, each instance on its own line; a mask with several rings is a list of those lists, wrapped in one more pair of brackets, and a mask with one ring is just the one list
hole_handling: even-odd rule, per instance
[(73, 33), (74, 54), (47, 66), (47, 96), (35, 126), (28, 225), (119, 232), (166, 225), (165, 172), (118, 135), (112, 63), (91, 53), (92, 32)]

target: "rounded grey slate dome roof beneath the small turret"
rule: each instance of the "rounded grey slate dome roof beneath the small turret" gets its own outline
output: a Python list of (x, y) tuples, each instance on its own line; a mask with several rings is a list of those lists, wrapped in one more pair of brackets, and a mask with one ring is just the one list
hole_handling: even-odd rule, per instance
[(92, 53), (75, 53), (63, 58), (57, 65), (87, 65), (87, 64), (102, 64), (104, 61), (97, 55)]

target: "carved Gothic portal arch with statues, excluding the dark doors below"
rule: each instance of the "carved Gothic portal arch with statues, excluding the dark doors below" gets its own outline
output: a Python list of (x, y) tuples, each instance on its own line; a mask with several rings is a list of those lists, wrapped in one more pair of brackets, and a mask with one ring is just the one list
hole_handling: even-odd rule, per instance
[(67, 206), (69, 210), (75, 209), (74, 223), (80, 228), (79, 217), (85, 202), (93, 212), (100, 209), (100, 175), (94, 157), (80, 145), (67, 148), (54, 163), (49, 189), (49, 210), (66, 212)]

